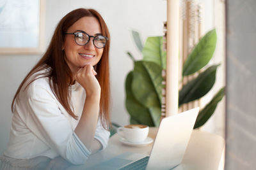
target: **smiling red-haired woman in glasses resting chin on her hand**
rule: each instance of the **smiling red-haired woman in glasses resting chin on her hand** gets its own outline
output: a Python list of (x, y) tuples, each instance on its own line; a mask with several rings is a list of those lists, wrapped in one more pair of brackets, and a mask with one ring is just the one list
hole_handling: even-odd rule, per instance
[(61, 19), (47, 51), (13, 98), (10, 139), (0, 169), (64, 169), (106, 148), (107, 39), (108, 27), (95, 10), (79, 8)]

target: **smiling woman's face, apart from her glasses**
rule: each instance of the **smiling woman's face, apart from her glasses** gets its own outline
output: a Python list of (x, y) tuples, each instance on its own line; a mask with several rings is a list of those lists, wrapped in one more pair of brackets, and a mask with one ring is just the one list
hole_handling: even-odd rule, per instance
[[(83, 17), (77, 20), (67, 33), (84, 31), (90, 36), (102, 34), (100, 24), (95, 17)], [(65, 51), (65, 60), (72, 73), (76, 73), (77, 67), (84, 67), (87, 64), (95, 66), (101, 59), (104, 48), (96, 48), (93, 45), (93, 38), (84, 45), (76, 44), (73, 34), (67, 34), (63, 45)]]

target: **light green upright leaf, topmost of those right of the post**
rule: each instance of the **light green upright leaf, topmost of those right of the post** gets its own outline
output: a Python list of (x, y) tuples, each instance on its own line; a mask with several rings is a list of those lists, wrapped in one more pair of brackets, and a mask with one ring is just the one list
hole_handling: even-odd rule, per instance
[(207, 32), (207, 34), (200, 39), (183, 66), (182, 76), (188, 76), (189, 74), (199, 71), (211, 60), (216, 47), (216, 41), (217, 36), (215, 29)]

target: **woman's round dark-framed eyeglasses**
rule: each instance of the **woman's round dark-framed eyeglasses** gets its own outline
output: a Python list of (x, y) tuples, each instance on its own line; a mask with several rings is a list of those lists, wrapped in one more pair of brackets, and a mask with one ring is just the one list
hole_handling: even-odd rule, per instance
[(76, 44), (81, 45), (81, 46), (89, 43), (91, 37), (93, 38), (93, 45), (96, 48), (104, 48), (104, 46), (106, 45), (106, 43), (108, 41), (108, 38), (106, 36), (102, 36), (102, 35), (90, 36), (89, 34), (87, 34), (84, 31), (72, 32), (72, 33), (65, 32), (64, 34), (73, 34)]

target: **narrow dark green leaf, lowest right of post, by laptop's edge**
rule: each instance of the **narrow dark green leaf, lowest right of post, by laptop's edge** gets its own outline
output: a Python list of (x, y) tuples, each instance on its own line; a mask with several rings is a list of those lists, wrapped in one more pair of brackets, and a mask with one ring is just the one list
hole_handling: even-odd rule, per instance
[(225, 96), (225, 87), (220, 89), (219, 92), (212, 98), (212, 100), (205, 106), (205, 108), (200, 111), (200, 113), (198, 113), (194, 129), (204, 125), (205, 122), (209, 120), (223, 96)]

